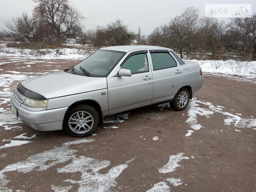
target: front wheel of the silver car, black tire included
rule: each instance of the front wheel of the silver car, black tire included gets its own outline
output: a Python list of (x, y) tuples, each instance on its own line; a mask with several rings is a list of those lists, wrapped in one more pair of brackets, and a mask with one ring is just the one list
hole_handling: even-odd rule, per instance
[(100, 116), (96, 109), (87, 104), (74, 106), (66, 113), (64, 130), (76, 137), (90, 136), (98, 128)]

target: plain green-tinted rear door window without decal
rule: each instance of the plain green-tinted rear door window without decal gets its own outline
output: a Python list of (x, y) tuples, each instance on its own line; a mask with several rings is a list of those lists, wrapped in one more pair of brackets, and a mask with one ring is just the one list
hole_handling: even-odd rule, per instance
[(176, 61), (169, 53), (151, 53), (153, 69), (160, 70), (171, 67), (176, 67)]

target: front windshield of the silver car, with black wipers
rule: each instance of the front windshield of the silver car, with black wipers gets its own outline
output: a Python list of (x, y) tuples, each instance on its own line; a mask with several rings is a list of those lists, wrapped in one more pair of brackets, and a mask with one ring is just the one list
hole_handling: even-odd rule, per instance
[[(84, 69), (91, 76), (106, 77), (124, 55), (125, 52), (120, 51), (98, 50), (74, 68), (78, 73), (84, 73)], [(83, 68), (82, 70), (81, 67)]]

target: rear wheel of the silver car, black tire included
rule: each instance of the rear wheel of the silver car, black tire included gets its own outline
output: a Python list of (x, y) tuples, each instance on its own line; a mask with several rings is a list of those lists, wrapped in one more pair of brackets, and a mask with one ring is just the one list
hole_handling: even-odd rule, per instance
[(176, 111), (182, 111), (188, 106), (189, 97), (189, 91), (186, 88), (182, 88), (177, 92), (170, 106)]

